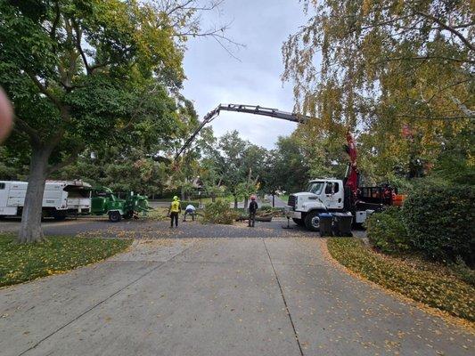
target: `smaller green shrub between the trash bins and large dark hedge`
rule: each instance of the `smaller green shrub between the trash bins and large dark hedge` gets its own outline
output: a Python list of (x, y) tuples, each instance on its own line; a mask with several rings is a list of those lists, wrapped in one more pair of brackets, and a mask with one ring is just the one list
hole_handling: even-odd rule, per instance
[(385, 254), (400, 254), (411, 248), (401, 211), (395, 206), (371, 215), (366, 227), (370, 243)]

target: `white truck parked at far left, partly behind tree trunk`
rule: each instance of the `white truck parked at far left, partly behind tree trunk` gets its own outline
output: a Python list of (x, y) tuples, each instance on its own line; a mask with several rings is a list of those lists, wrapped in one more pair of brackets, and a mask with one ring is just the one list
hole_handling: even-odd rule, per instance
[[(0, 181), (0, 216), (20, 216), (28, 182)], [(68, 214), (89, 213), (91, 185), (81, 181), (46, 181), (43, 215), (57, 220)]]

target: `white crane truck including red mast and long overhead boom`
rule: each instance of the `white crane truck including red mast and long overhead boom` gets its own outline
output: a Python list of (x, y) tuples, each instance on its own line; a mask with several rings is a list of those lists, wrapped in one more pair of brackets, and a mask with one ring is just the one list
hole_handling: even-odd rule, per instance
[[(184, 150), (200, 133), (201, 129), (219, 116), (221, 111), (234, 111), (266, 117), (275, 117), (298, 124), (306, 123), (311, 117), (279, 109), (254, 105), (220, 104), (211, 110), (201, 121), (184, 146), (176, 153), (177, 160)], [(356, 143), (353, 135), (347, 134), (346, 150), (349, 156), (347, 174), (344, 179), (315, 179), (308, 184), (307, 191), (291, 194), (285, 208), (286, 216), (295, 223), (306, 226), (308, 230), (318, 231), (319, 214), (340, 212), (353, 215), (354, 223), (364, 223), (366, 216), (388, 205), (400, 203), (401, 196), (389, 185), (360, 187), (359, 172), (356, 166)]]

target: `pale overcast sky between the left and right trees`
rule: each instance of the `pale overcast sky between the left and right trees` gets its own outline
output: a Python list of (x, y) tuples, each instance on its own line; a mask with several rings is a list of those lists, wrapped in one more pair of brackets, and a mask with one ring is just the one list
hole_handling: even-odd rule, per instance
[[(299, 0), (225, 0), (221, 13), (202, 17), (202, 28), (231, 23), (226, 36), (245, 44), (235, 60), (212, 38), (191, 38), (184, 58), (184, 96), (200, 118), (218, 104), (239, 103), (292, 111), (291, 83), (283, 85), (282, 45), (305, 21)], [(271, 117), (221, 112), (212, 124), (217, 136), (238, 130), (243, 139), (274, 148), (296, 124)]]

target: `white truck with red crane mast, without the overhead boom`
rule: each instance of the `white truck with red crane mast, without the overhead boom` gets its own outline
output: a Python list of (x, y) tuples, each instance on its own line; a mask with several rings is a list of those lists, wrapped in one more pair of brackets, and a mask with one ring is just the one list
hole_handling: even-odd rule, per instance
[(353, 136), (347, 135), (347, 152), (350, 158), (344, 179), (324, 178), (310, 181), (306, 191), (291, 194), (285, 214), (294, 223), (308, 230), (320, 229), (320, 214), (351, 213), (353, 223), (364, 223), (369, 214), (384, 206), (400, 206), (404, 196), (388, 184), (377, 187), (360, 187), (356, 167), (356, 145)]

